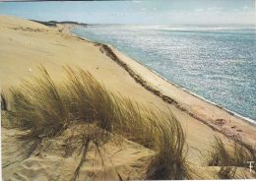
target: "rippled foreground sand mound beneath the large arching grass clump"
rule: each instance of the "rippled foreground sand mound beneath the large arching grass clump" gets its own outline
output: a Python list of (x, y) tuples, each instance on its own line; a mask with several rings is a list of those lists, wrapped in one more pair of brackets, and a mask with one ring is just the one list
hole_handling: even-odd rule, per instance
[[(82, 134), (77, 127), (75, 129), (77, 134)], [(14, 137), (22, 132), (14, 129), (2, 131), (4, 180), (71, 180), (74, 177), (83, 155), (79, 154), (80, 147), (76, 147), (71, 156), (63, 157), (65, 138), (71, 130), (56, 140), (42, 143), (41, 149), (29, 158), (22, 156), (26, 142)], [(117, 143), (108, 142), (99, 151), (91, 142), (77, 180), (142, 179), (152, 155), (154, 151), (125, 139)]]

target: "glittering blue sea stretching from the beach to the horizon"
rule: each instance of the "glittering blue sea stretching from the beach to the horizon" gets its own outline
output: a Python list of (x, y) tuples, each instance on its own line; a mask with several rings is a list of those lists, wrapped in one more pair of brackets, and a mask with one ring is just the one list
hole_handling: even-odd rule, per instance
[(72, 30), (111, 44), (170, 82), (256, 120), (256, 29), (95, 25)]

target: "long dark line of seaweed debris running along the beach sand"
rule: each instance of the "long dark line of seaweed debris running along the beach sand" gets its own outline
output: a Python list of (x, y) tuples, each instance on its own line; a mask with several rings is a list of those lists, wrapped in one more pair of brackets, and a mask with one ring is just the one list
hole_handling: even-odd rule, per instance
[[(84, 39), (84, 38), (80, 37), (80, 39)], [(84, 39), (84, 40), (86, 40), (86, 39)], [(137, 83), (139, 83), (146, 90), (153, 92), (154, 94), (159, 96), (164, 102), (174, 105), (176, 108), (178, 108), (181, 111), (187, 113), (189, 116), (199, 120), (203, 124), (205, 124), (205, 125), (209, 126), (210, 128), (212, 128), (214, 131), (217, 131), (217, 132), (223, 134), (225, 137), (227, 137), (227, 138), (229, 138), (231, 140), (234, 140), (235, 142), (237, 142), (241, 146), (244, 146), (248, 150), (254, 150), (254, 148), (252, 148), (249, 144), (247, 144), (244, 141), (242, 141), (239, 137), (237, 137), (235, 135), (230, 135), (230, 134), (228, 134), (228, 132), (226, 133), (224, 131), (224, 129), (222, 129), (222, 128), (216, 126), (216, 125), (211, 124), (210, 123), (211, 120), (208, 121), (208, 120), (202, 119), (201, 117), (199, 117), (196, 114), (194, 114), (194, 113), (190, 112), (189, 110), (187, 110), (185, 107), (181, 106), (173, 98), (171, 98), (171, 97), (169, 97), (167, 95), (164, 95), (160, 91), (152, 88), (145, 80), (143, 80), (141, 78), (141, 76), (136, 74), (126, 63), (124, 63), (120, 58), (118, 58), (116, 56), (116, 54), (113, 52), (113, 50), (111, 49), (111, 47), (109, 47), (108, 45), (103, 44), (103, 43), (98, 43), (98, 42), (94, 42), (94, 43), (95, 43), (96, 46), (99, 47), (99, 50), (100, 50), (101, 53), (105, 53), (106, 56), (108, 56), (110, 59), (112, 59), (118, 65), (120, 65)]]

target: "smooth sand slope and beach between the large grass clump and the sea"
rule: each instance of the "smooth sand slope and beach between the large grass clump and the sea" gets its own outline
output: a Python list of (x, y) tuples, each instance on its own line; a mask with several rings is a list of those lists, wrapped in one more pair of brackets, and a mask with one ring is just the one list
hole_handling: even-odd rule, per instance
[[(6, 60), (2, 64), (1, 75), (6, 78), (3, 86), (8, 88), (19, 84), (21, 78), (37, 75), (37, 66), (41, 64), (59, 81), (64, 79), (63, 65), (81, 67), (90, 71), (109, 91), (121, 92), (152, 108), (171, 109), (189, 135), (189, 145), (194, 148), (207, 150), (218, 135), (229, 141), (239, 140), (256, 150), (255, 126), (165, 80), (111, 45), (72, 33), (72, 28), (78, 26), (60, 24), (52, 28), (16, 18), (0, 20), (6, 49), (2, 50)], [(21, 51), (13, 51), (14, 47)], [(193, 155), (198, 153), (191, 151)]]

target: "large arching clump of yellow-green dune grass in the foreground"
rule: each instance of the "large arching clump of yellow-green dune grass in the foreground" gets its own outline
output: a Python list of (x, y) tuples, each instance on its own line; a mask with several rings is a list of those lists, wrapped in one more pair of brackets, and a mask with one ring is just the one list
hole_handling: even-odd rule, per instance
[[(56, 84), (44, 67), (40, 71), (39, 77), (8, 92), (11, 120), (17, 128), (26, 131), (22, 138), (32, 141), (28, 156), (40, 146), (42, 139), (57, 137), (79, 121), (156, 151), (146, 178), (189, 178), (185, 134), (169, 110), (151, 110), (115, 95), (81, 69), (65, 67), (67, 79), (61, 84)], [(99, 140), (107, 140), (106, 134), (88, 135), (83, 138), (84, 156), (80, 165), (85, 161), (89, 142), (98, 145)], [(79, 166), (73, 180), (78, 171)]]

